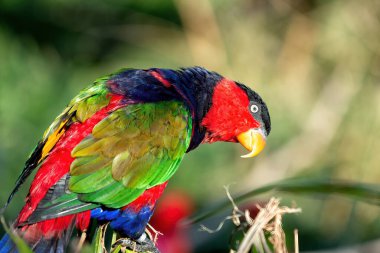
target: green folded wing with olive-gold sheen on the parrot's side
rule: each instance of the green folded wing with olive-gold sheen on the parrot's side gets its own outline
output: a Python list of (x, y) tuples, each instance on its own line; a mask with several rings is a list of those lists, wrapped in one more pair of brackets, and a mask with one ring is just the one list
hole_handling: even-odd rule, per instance
[(74, 148), (69, 189), (84, 202), (125, 206), (173, 175), (190, 138), (191, 117), (182, 103), (128, 105)]

